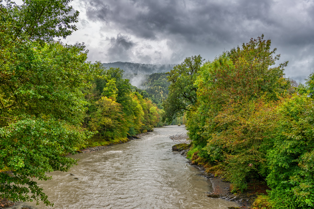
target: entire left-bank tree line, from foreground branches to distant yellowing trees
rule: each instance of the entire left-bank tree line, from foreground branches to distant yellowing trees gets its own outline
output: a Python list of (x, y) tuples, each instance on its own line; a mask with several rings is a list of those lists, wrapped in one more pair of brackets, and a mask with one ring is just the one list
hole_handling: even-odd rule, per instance
[(87, 62), (70, 0), (0, 1), (0, 198), (52, 205), (35, 179), (69, 171), (66, 155), (152, 130), (162, 110), (118, 68)]

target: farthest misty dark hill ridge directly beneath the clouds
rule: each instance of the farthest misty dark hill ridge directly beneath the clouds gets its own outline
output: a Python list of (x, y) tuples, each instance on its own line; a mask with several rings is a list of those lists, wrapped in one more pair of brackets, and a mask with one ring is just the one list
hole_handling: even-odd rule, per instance
[(120, 68), (125, 74), (153, 74), (165, 73), (173, 69), (176, 64), (140, 64), (131, 62), (103, 63), (104, 67)]

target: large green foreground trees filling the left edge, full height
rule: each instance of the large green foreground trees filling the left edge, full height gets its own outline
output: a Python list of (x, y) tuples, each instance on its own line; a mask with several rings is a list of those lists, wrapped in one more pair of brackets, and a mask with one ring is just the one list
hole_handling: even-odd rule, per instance
[(68, 3), (0, 4), (0, 170), (11, 172), (0, 173), (2, 198), (52, 205), (32, 178), (68, 171), (76, 161), (65, 155), (92, 135), (80, 128), (82, 89), (100, 64), (86, 62), (82, 44), (53, 41), (76, 30)]

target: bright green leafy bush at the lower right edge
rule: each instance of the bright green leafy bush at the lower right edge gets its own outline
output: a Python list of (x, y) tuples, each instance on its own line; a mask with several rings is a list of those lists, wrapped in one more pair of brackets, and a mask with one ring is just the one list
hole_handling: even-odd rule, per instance
[(313, 110), (313, 100), (297, 94), (276, 109), (279, 120), (268, 151), (267, 182), (270, 196), (282, 208), (314, 207)]

